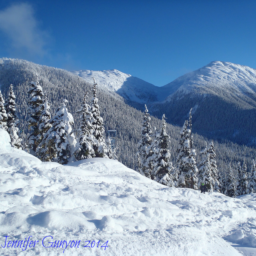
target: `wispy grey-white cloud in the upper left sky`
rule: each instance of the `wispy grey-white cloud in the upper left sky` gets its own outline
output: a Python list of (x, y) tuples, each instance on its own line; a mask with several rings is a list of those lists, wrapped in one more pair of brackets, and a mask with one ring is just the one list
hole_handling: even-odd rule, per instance
[(42, 31), (30, 4), (14, 4), (0, 11), (0, 30), (6, 33), (12, 50), (44, 57), (47, 54), (47, 32)]

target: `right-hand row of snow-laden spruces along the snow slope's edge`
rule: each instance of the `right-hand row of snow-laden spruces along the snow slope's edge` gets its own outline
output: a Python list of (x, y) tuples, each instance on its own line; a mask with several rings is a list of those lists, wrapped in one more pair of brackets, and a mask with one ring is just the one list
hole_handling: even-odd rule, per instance
[(180, 131), (180, 141), (176, 150), (176, 166), (174, 167), (170, 160), (170, 136), (166, 133), (165, 115), (162, 116), (161, 130), (157, 132), (154, 129), (152, 132), (150, 114), (145, 105), (141, 139), (138, 142), (138, 172), (171, 187), (198, 190), (202, 184), (205, 184), (208, 192), (222, 192), (230, 197), (256, 192), (256, 163), (253, 161), (249, 173), (245, 159), (242, 168), (238, 162), (236, 172), (230, 165), (227, 172), (219, 172), (213, 140), (200, 151), (202, 160), (197, 165), (191, 111), (192, 108), (189, 120), (185, 120)]

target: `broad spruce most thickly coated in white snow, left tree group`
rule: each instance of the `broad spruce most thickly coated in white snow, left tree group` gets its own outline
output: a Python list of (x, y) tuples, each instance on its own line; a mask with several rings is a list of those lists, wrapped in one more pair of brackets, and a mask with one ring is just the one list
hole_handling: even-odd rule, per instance
[(76, 140), (71, 127), (74, 124), (74, 118), (64, 103), (56, 110), (50, 123), (52, 127), (44, 138), (48, 152), (47, 160), (67, 164), (74, 151)]

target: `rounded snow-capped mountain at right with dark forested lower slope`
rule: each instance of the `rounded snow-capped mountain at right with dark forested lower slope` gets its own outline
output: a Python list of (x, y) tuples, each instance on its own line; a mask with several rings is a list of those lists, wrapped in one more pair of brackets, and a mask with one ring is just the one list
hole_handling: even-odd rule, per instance
[[(193, 109), (194, 131), (218, 139), (256, 146), (256, 70), (215, 61), (163, 86), (178, 88), (165, 102), (151, 105), (160, 118), (182, 125)], [(150, 108), (150, 106), (149, 106)]]

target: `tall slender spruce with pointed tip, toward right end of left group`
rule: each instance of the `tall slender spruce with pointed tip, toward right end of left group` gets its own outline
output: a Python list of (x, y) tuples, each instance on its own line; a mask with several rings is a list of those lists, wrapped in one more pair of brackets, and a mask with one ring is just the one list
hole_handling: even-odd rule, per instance
[(96, 81), (93, 78), (93, 87), (92, 87), (92, 100), (91, 100), (91, 112), (92, 112), (92, 125), (94, 127), (93, 135), (96, 138), (96, 144), (93, 145), (95, 157), (108, 158), (107, 145), (104, 139), (105, 128), (103, 126), (103, 119), (100, 116), (100, 110), (98, 106), (98, 98), (96, 97)]

